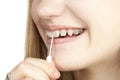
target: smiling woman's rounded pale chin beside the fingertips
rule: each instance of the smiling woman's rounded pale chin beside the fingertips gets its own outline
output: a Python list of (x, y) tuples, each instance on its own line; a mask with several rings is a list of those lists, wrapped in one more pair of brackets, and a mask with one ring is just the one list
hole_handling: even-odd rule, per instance
[[(76, 56), (75, 56), (76, 57)], [(73, 58), (73, 56), (60, 56), (54, 58), (56, 68), (59, 71), (75, 71), (81, 70), (88, 67), (89, 63), (87, 60), (82, 60), (80, 57)]]

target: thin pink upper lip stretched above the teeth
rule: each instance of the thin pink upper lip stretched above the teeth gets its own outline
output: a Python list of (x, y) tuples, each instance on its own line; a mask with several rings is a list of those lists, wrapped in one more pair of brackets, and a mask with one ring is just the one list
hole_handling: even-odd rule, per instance
[(42, 27), (49, 31), (61, 30), (61, 29), (85, 29), (85, 26), (70, 26), (70, 25), (48, 25), (44, 24)]

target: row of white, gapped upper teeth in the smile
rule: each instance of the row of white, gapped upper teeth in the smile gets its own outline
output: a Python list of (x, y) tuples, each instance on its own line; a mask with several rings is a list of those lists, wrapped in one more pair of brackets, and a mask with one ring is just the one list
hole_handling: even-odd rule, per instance
[(72, 29), (69, 29), (69, 30), (56, 30), (56, 31), (46, 31), (46, 35), (49, 37), (49, 38), (52, 38), (55, 37), (64, 37), (66, 35), (68, 36), (72, 36), (72, 35), (78, 35), (80, 33), (82, 33), (84, 30), (83, 29), (75, 29), (75, 30), (72, 30)]

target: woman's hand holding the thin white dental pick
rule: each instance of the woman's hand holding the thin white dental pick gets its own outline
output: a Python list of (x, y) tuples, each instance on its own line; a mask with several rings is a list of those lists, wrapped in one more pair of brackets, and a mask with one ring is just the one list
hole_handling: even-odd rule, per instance
[(10, 80), (55, 80), (59, 77), (60, 72), (54, 63), (35, 58), (24, 60), (9, 74)]

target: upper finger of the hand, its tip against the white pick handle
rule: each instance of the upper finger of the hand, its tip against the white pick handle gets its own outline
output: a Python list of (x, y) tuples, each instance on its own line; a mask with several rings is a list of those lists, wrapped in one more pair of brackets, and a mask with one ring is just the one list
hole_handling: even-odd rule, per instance
[(48, 63), (46, 60), (35, 58), (28, 58), (25, 61), (41, 68), (50, 78), (58, 79), (60, 77), (60, 72), (56, 69), (54, 63)]

